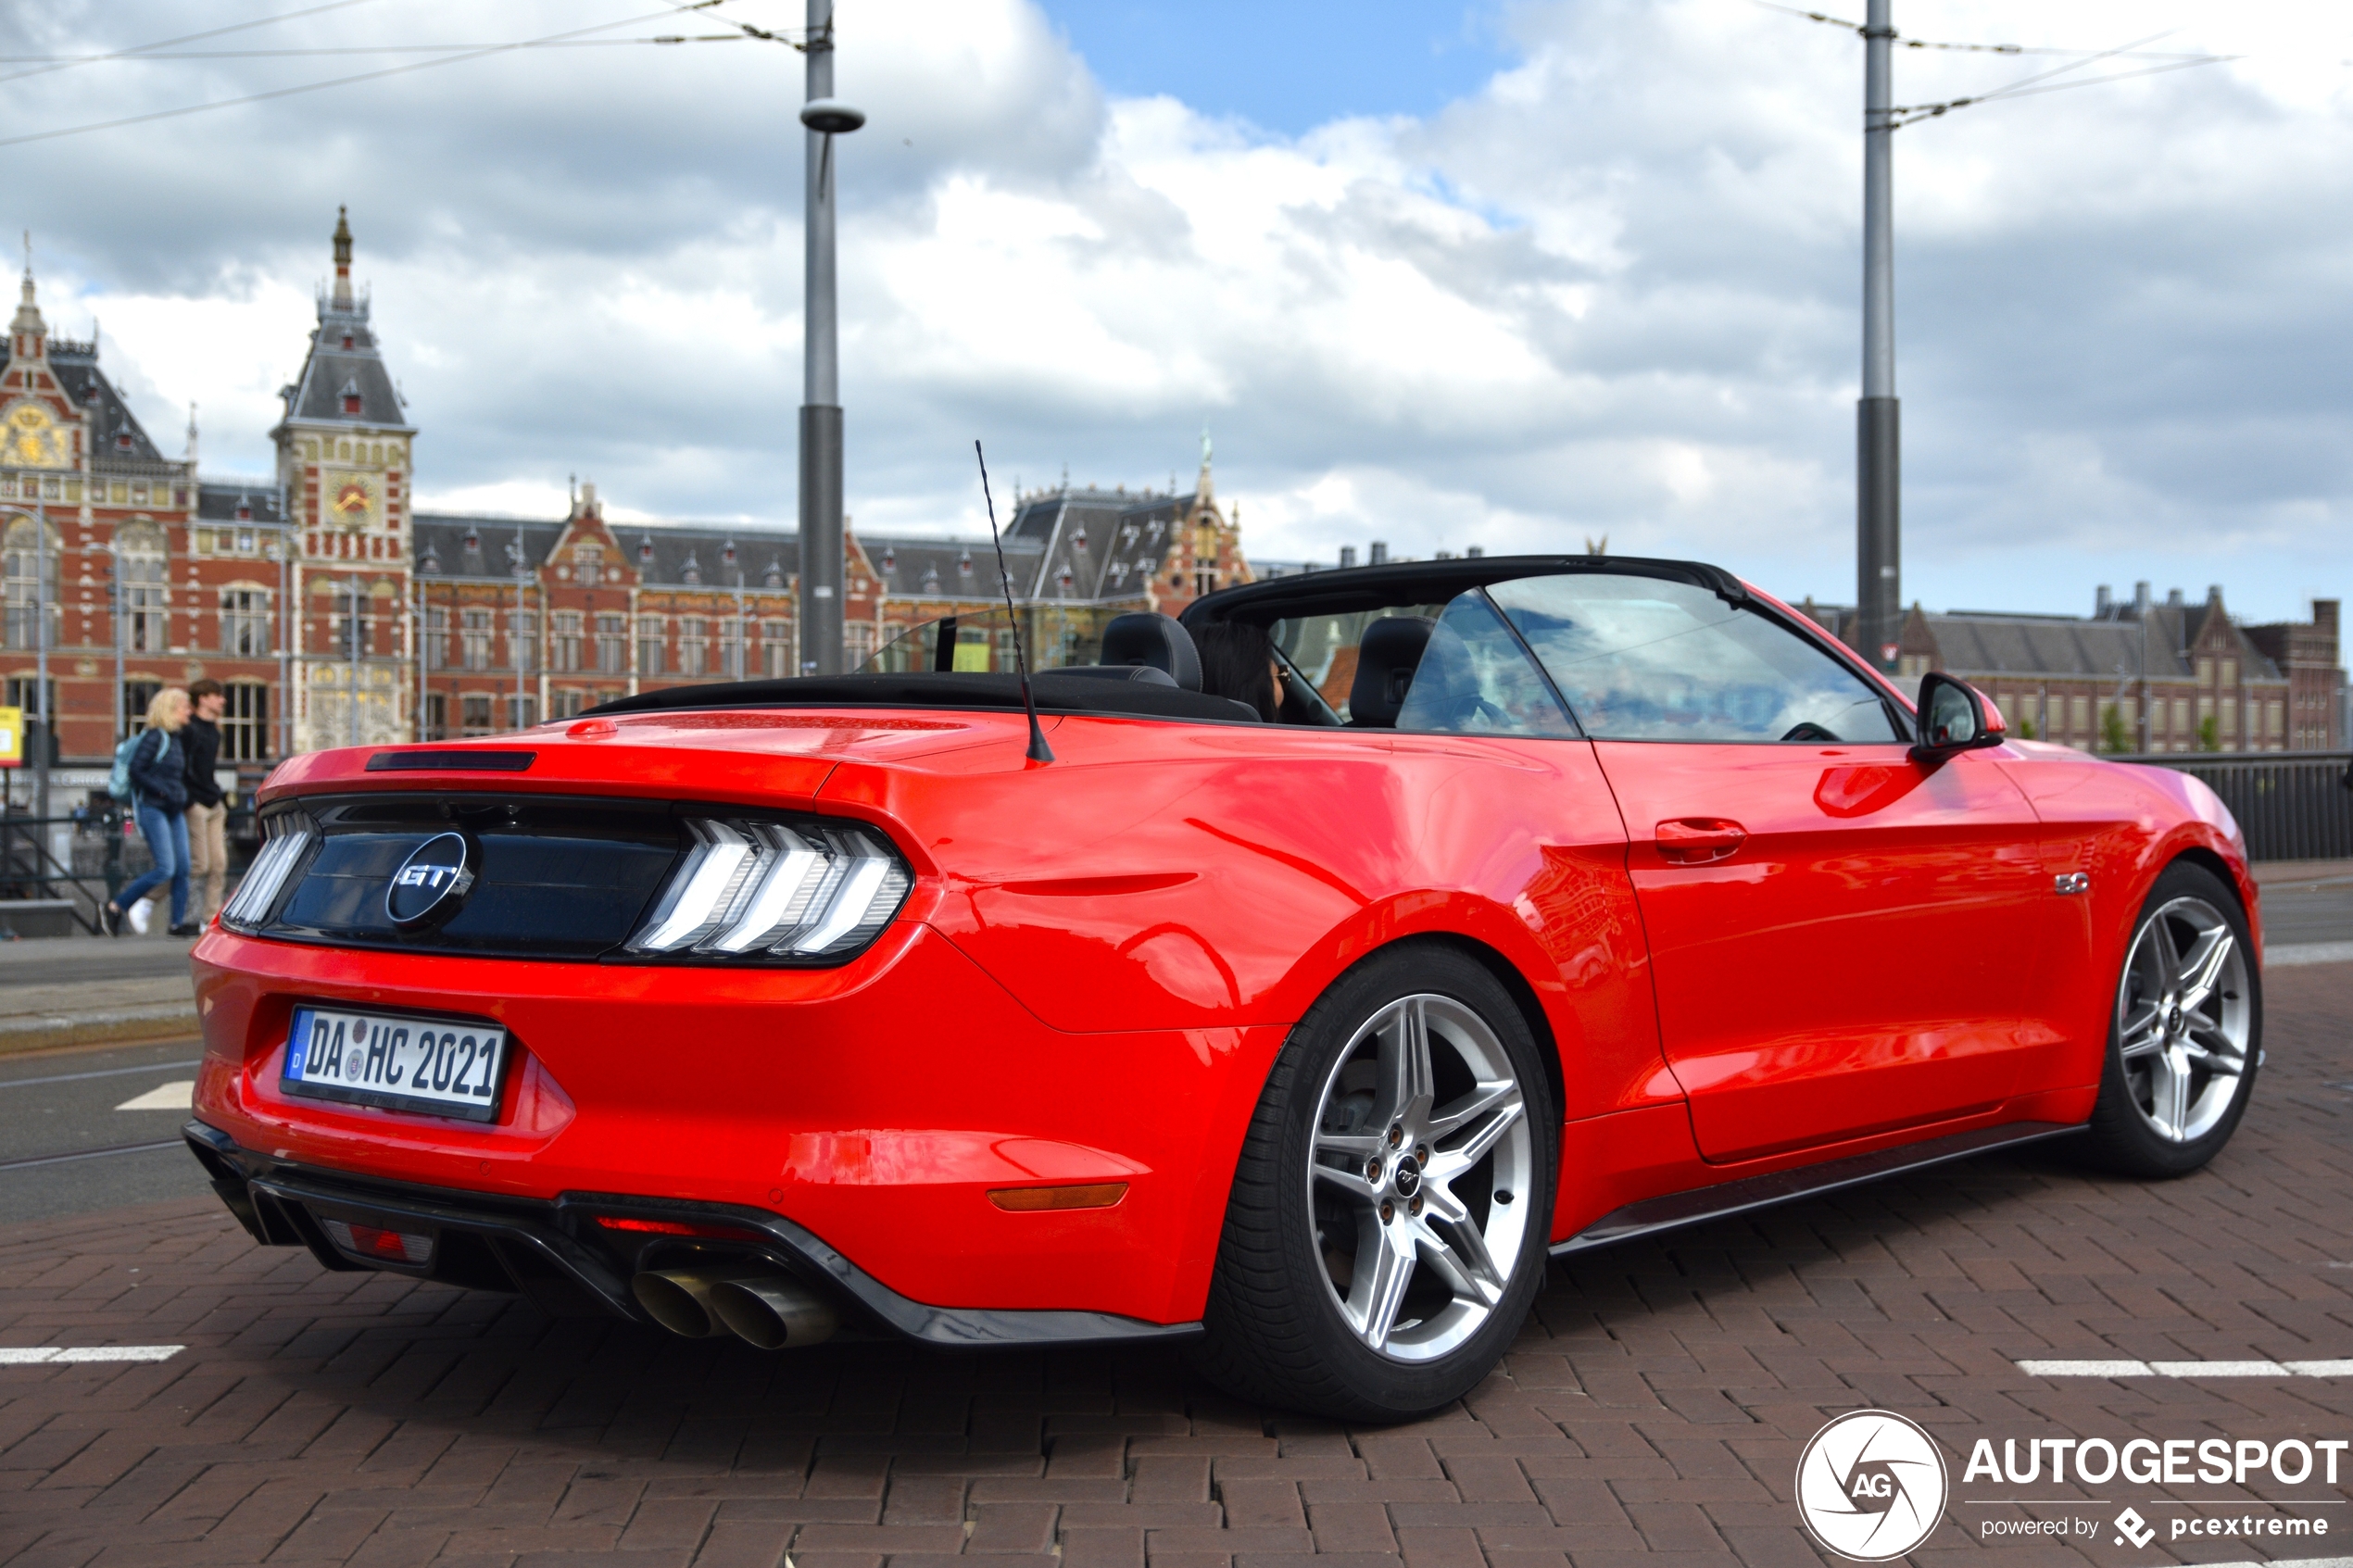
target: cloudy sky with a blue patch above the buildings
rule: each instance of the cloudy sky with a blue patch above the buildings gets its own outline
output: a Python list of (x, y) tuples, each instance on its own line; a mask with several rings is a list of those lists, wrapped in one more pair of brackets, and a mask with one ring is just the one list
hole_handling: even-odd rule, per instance
[[(871, 115), (840, 146), (861, 531), (981, 527), (974, 435), (1005, 480), (1144, 487), (1188, 484), (1209, 428), (1259, 557), (1607, 536), (1852, 597), (1849, 31), (1755, 0), (838, 5)], [(725, 19), (800, 7), (7, 7), (0, 216), (167, 449), (200, 404), (209, 473), (268, 470), (348, 202), (426, 503), (546, 512), (576, 473), (633, 515), (788, 524), (800, 56), (605, 42)], [(2151, 578), (2271, 618), (2353, 590), (2353, 12), (1897, 26), (2139, 45), (2054, 82), (2240, 56), (1897, 136), (1906, 597), (2080, 611)], [(1897, 99), (2071, 59), (1901, 49)]]

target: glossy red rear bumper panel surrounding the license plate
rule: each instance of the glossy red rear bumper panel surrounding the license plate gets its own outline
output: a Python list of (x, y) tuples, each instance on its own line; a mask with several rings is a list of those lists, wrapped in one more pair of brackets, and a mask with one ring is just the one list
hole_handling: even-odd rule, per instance
[[(929, 926), (842, 969), (727, 973), (353, 952), (214, 931), (195, 1117), (341, 1182), (544, 1213), (635, 1194), (824, 1237), (894, 1300), (1191, 1324), (1280, 1027), (1073, 1034)], [(301, 1004), (494, 1020), (496, 1117), (292, 1098)], [(1118, 1187), (1035, 1208), (1009, 1190)], [(511, 1208), (520, 1206), (520, 1208)], [(539, 1206), (539, 1208), (534, 1208)], [(626, 1281), (624, 1281), (626, 1284)]]

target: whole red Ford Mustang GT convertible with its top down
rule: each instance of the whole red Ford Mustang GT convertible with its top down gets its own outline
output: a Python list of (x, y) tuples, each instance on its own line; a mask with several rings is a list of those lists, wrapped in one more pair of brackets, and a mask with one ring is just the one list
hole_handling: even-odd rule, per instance
[(2224, 806), (1715, 567), (1120, 616), (1042, 743), (969, 630), (287, 759), (195, 947), (228, 1208), (555, 1314), (1188, 1342), (1393, 1420), (1548, 1253), (2035, 1138), (2179, 1175), (2247, 1107)]

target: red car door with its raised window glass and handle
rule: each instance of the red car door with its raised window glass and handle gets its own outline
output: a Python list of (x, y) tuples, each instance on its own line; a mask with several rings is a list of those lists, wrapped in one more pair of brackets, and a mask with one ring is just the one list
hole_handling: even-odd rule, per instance
[(1699, 581), (1497, 585), (1628, 832), (1659, 1034), (1708, 1159), (2000, 1105), (2047, 1041), (2049, 884), (1998, 752), (1911, 757), (1828, 649)]

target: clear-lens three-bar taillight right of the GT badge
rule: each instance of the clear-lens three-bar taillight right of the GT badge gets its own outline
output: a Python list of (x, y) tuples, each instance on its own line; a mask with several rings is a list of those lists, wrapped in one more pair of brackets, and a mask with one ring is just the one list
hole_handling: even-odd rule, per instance
[(915, 877), (887, 837), (819, 818), (687, 818), (671, 872), (628, 952), (840, 961), (889, 924)]

